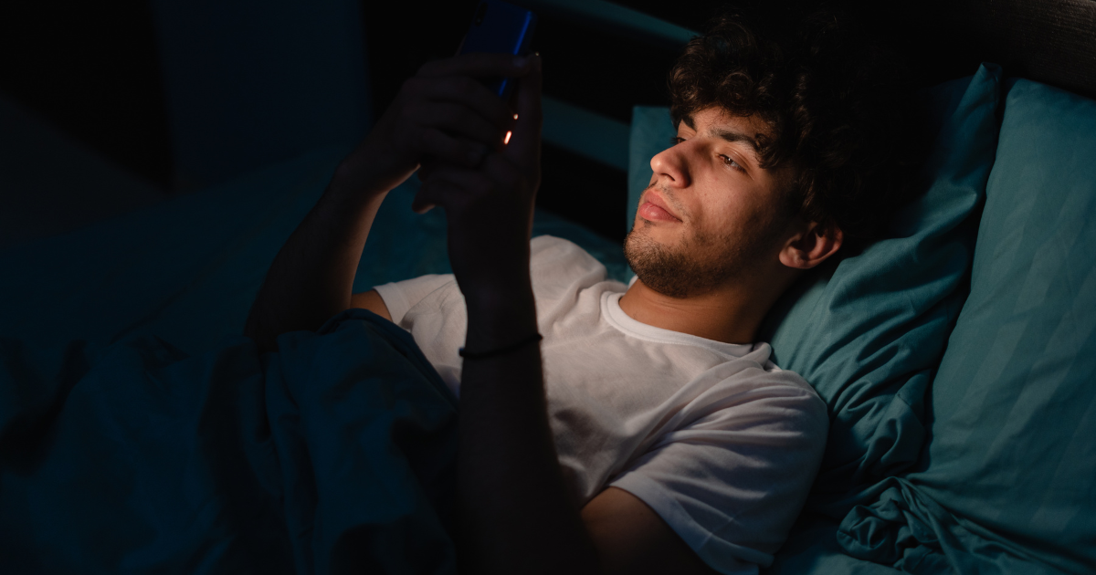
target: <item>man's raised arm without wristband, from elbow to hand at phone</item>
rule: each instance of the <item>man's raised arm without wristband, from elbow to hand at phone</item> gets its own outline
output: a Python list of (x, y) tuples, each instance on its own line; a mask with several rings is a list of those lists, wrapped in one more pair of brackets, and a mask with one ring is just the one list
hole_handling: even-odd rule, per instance
[(479, 164), (513, 120), (473, 78), (515, 77), (527, 68), (512, 56), (472, 54), (427, 64), (408, 80), (278, 252), (244, 334), (274, 349), (279, 334), (316, 330), (351, 307), (357, 262), (385, 196), (423, 161)]

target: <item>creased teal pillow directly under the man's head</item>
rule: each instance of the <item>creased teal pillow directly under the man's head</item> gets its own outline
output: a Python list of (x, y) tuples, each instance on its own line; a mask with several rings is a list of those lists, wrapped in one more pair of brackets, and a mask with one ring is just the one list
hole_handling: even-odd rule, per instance
[[(808, 507), (835, 520), (872, 501), (924, 444), (925, 394), (966, 296), (993, 164), (998, 77), (987, 65), (922, 94), (929, 134), (937, 134), (918, 183), (924, 195), (886, 239), (804, 277), (763, 326), (777, 365), (803, 376), (829, 405), (830, 438)], [(659, 139), (669, 115), (636, 108), (633, 130), (636, 123), (658, 135), (633, 150), (633, 160), (649, 160), (669, 143)], [(636, 204), (651, 171), (638, 160), (630, 171)]]

